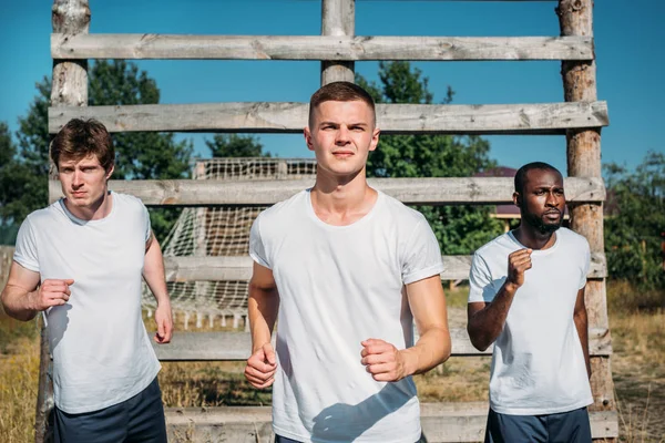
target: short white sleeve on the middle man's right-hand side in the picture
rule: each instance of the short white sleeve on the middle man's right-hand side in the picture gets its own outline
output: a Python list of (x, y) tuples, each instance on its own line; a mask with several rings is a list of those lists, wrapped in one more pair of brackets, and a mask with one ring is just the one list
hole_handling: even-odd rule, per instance
[(405, 246), (402, 281), (412, 284), (443, 271), (441, 249), (432, 228), (422, 217)]

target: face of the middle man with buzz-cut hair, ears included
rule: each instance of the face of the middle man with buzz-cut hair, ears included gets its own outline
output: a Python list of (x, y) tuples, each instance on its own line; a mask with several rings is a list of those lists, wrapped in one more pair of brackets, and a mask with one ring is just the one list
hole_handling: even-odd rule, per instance
[(323, 172), (354, 176), (365, 171), (369, 152), (379, 143), (375, 113), (360, 100), (323, 102), (314, 111), (311, 125), (305, 128), (305, 141)]

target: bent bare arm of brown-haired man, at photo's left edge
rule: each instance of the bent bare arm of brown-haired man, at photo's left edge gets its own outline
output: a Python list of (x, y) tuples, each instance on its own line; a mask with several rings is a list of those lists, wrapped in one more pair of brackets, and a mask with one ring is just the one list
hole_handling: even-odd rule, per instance
[(47, 279), (41, 286), (39, 282), (39, 272), (13, 261), (0, 296), (4, 311), (18, 320), (32, 320), (39, 311), (64, 305), (72, 293), (69, 286), (74, 280)]

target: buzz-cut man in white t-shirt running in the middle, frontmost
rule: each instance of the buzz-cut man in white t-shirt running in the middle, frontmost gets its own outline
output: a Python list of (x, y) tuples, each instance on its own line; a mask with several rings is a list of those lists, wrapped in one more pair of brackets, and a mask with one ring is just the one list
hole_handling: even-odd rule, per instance
[(367, 184), (379, 130), (365, 90), (318, 90), (305, 140), (316, 184), (252, 227), (245, 377), (259, 389), (274, 383), (278, 443), (415, 443), (411, 375), (450, 354), (439, 245), (420, 213)]

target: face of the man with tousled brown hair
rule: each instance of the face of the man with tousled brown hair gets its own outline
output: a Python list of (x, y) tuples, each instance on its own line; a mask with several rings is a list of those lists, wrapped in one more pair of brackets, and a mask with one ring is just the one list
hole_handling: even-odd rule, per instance
[(58, 178), (68, 206), (95, 209), (108, 192), (106, 181), (112, 173), (113, 166), (104, 171), (94, 154), (80, 159), (60, 158)]

